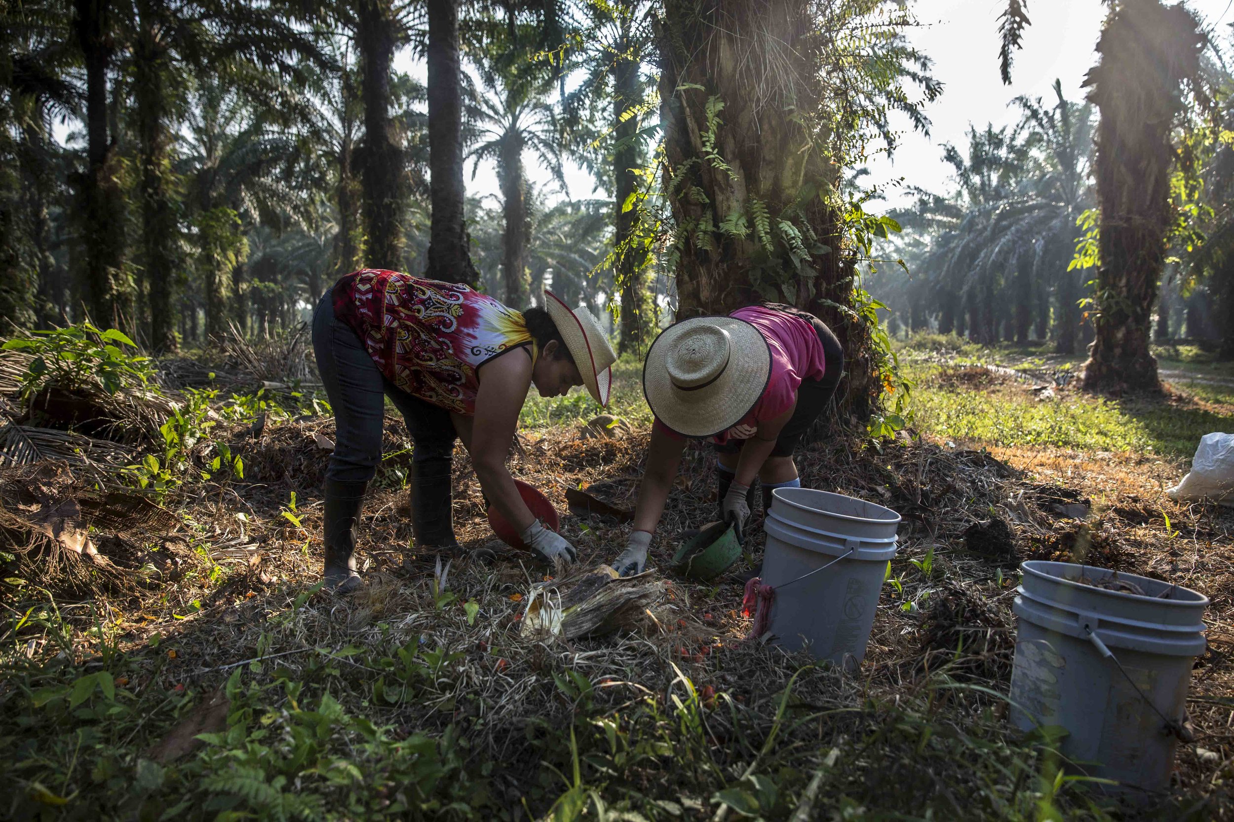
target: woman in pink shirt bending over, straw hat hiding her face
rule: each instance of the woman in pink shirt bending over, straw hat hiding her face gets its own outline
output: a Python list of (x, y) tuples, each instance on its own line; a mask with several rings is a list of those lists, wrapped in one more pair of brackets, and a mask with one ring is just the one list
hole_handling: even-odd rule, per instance
[(714, 445), (719, 516), (738, 534), (754, 507), (755, 477), (764, 511), (774, 489), (800, 487), (793, 449), (830, 405), (843, 372), (832, 330), (791, 306), (749, 306), (666, 328), (643, 366), (655, 425), (634, 530), (612, 567), (624, 577), (647, 564), (687, 439)]

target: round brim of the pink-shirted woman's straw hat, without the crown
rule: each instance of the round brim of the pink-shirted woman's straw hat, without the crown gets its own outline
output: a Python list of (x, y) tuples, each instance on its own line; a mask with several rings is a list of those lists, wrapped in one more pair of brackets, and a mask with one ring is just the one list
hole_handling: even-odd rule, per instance
[[(673, 385), (666, 361), (673, 341), (698, 324), (728, 332), (728, 366), (710, 386), (682, 391)], [(771, 348), (759, 329), (735, 317), (694, 317), (668, 327), (652, 343), (643, 364), (643, 396), (670, 430), (682, 436), (716, 436), (750, 413), (770, 378)]]

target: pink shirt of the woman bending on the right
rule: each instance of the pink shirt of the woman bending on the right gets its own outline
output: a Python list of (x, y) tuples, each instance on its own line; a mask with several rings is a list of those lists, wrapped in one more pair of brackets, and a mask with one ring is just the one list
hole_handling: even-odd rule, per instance
[[(738, 308), (729, 317), (744, 319), (763, 334), (771, 349), (771, 375), (754, 408), (737, 425), (708, 437), (717, 445), (754, 436), (759, 423), (775, 419), (792, 408), (802, 380), (822, 380), (827, 371), (818, 332), (802, 318), (763, 306)], [(675, 440), (685, 439), (660, 420), (655, 420), (655, 426)]]

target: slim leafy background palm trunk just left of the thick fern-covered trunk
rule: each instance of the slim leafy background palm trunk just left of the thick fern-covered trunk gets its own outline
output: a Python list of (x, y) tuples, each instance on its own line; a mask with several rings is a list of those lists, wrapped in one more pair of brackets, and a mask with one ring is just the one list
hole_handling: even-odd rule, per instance
[(617, 285), (621, 288), (621, 340), (618, 350), (622, 354), (638, 354), (643, 345), (648, 327), (649, 306), (644, 275), (650, 259), (649, 245), (633, 242), (638, 210), (628, 208), (627, 201), (633, 196), (638, 177), (634, 169), (640, 165), (638, 144), (634, 140), (638, 118), (629, 116), (629, 110), (637, 106), (639, 99), (639, 63), (629, 59), (631, 44), (627, 39), (618, 47), (618, 57), (613, 64), (613, 205), (616, 206), (616, 235), (613, 246), (617, 253)]

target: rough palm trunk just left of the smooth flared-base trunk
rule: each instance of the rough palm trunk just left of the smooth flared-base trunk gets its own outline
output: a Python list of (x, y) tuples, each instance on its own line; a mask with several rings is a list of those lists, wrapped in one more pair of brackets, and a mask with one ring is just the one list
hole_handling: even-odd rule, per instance
[(390, 117), (390, 64), (397, 41), (391, 0), (360, 0), (355, 43), (360, 52), (364, 145), (358, 152), (364, 197), (364, 265), (399, 269), (406, 243), (405, 165)]

